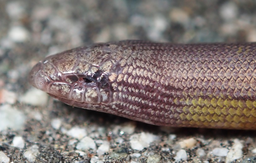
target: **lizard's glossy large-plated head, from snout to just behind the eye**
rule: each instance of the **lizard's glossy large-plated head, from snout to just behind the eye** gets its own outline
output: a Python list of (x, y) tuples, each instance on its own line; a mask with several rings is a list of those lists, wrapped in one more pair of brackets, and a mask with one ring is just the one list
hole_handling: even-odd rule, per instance
[(111, 48), (97, 44), (48, 56), (32, 68), (29, 82), (53, 97), (109, 104), (108, 75), (114, 66)]

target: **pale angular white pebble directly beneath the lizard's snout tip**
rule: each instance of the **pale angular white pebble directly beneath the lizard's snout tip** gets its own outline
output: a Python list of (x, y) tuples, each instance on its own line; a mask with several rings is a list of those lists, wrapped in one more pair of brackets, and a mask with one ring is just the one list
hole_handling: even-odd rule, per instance
[(34, 106), (45, 106), (47, 104), (48, 97), (47, 93), (39, 89), (31, 88), (19, 98), (19, 101), (21, 103)]

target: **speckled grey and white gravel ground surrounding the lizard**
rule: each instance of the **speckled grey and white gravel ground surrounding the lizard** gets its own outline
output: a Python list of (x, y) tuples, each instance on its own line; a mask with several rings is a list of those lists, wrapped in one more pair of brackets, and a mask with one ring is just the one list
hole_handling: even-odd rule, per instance
[(163, 128), (32, 88), (47, 55), (85, 43), (256, 41), (254, 0), (1, 0), (0, 162), (256, 162), (255, 131)]

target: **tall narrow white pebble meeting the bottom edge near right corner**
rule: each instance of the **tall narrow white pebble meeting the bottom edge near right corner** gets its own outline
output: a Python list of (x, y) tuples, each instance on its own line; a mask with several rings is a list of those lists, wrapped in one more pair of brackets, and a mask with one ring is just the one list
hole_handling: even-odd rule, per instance
[(238, 139), (235, 139), (234, 144), (232, 145), (231, 149), (227, 154), (226, 163), (230, 163), (234, 160), (242, 158), (242, 148), (242, 143)]

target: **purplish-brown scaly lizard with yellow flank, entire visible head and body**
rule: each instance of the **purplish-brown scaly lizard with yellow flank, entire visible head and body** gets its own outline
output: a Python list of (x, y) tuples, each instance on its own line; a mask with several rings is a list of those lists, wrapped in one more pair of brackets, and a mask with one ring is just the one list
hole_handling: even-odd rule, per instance
[(47, 57), (29, 80), (68, 105), (149, 124), (256, 129), (256, 43), (92, 44)]

